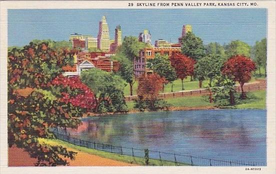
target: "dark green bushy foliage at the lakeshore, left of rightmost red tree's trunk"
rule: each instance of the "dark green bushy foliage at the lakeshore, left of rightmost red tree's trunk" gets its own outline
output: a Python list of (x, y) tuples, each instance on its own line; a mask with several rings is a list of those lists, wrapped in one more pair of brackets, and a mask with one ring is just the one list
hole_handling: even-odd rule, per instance
[(214, 102), (216, 106), (234, 105), (235, 104), (235, 82), (223, 75), (216, 75), (214, 86), (211, 88), (212, 94), (209, 101)]

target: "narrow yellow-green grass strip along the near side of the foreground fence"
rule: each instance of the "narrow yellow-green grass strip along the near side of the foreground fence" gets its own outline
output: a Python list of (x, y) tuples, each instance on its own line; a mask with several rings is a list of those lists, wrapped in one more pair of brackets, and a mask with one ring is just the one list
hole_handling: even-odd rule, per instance
[[(74, 145), (74, 144), (59, 140), (59, 139), (39, 138), (39, 142), (45, 142), (50, 145), (61, 145), (66, 148), (71, 148), (71, 149), (75, 149), (75, 150), (82, 151), (85, 153), (94, 154), (97, 156), (101, 156), (101, 157), (109, 158), (109, 159), (113, 159), (113, 160), (118, 160), (118, 161), (122, 161), (122, 162), (133, 163), (133, 164), (137, 164), (137, 165), (145, 165), (145, 160), (143, 157), (135, 156), (133, 158), (133, 156), (130, 156), (130, 155), (121, 155), (121, 154), (96, 150), (93, 148), (87, 148), (87, 147), (83, 147), (83, 146), (79, 146), (79, 145)], [(175, 165), (174, 162), (163, 161), (163, 160), (162, 160), (162, 164), (163, 165)], [(149, 165), (160, 165), (160, 160), (149, 159)], [(188, 165), (188, 164), (181, 164), (181, 165)]]

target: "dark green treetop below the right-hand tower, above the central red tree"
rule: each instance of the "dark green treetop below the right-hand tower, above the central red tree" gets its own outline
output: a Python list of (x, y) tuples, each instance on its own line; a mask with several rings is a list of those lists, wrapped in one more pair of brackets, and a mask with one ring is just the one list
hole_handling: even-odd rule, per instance
[(205, 55), (205, 49), (201, 38), (188, 32), (182, 38), (181, 52), (194, 60), (198, 60)]

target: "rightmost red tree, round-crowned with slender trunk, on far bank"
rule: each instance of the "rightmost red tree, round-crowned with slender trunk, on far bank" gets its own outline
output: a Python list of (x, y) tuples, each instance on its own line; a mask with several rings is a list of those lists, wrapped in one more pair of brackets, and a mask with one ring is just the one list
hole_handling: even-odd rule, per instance
[(223, 65), (221, 73), (227, 75), (233, 81), (238, 81), (241, 88), (241, 98), (245, 98), (243, 84), (251, 79), (251, 73), (255, 70), (255, 63), (243, 55), (230, 57)]

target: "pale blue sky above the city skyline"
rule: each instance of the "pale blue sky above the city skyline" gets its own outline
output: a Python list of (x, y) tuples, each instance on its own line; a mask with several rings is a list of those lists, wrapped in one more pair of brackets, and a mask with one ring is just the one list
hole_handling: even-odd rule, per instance
[(138, 36), (143, 29), (154, 40), (177, 42), (182, 25), (204, 44), (242, 40), (249, 45), (266, 37), (265, 8), (213, 9), (8, 9), (8, 46), (23, 46), (32, 39), (68, 40), (72, 33), (96, 37), (98, 22), (106, 15), (110, 39), (120, 24), (122, 36)]

